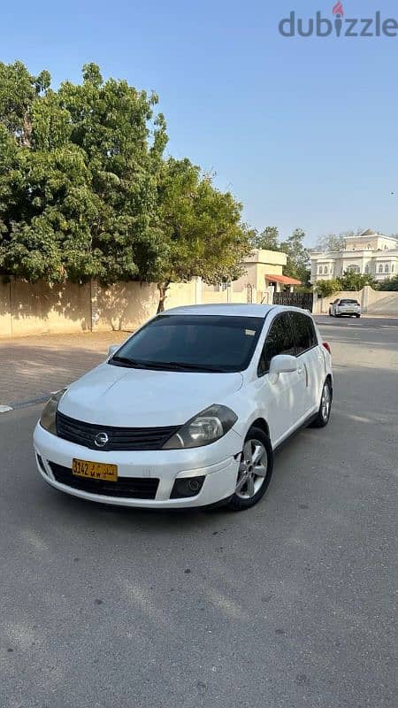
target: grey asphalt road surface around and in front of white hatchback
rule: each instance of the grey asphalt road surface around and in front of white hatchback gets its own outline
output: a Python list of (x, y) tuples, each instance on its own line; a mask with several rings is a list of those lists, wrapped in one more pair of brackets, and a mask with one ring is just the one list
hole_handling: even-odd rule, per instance
[(0, 417), (0, 705), (396, 708), (398, 320), (320, 321), (333, 418), (249, 512), (63, 496)]

